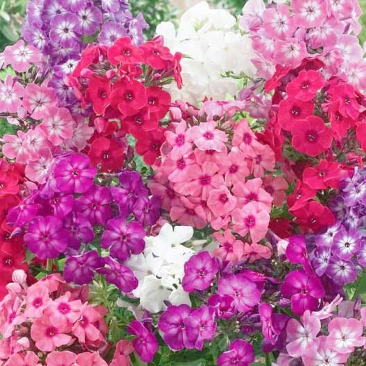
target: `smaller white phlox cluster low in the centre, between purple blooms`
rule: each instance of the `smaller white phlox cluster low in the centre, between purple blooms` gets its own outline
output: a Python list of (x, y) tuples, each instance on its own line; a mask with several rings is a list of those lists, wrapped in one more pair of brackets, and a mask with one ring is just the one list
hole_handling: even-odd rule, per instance
[(145, 238), (143, 253), (132, 256), (126, 265), (134, 271), (139, 286), (132, 291), (141, 307), (150, 313), (164, 311), (165, 300), (173, 305), (191, 305), (189, 294), (182, 288), (184, 263), (195, 253), (182, 243), (193, 236), (190, 226), (164, 224), (158, 236)]

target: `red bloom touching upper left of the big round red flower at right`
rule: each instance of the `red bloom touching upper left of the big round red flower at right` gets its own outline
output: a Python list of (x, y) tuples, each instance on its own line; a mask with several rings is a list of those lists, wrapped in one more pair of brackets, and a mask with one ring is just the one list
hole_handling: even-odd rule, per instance
[(296, 98), (284, 99), (279, 103), (278, 122), (281, 128), (290, 131), (296, 121), (306, 119), (314, 112), (314, 103), (312, 101), (301, 101)]

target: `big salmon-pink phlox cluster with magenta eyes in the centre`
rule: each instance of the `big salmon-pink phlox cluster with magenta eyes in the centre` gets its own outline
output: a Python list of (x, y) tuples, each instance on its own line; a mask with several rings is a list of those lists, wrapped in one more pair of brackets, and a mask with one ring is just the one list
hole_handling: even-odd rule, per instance
[[(272, 201), (284, 200), (286, 180), (266, 175), (275, 168), (275, 153), (247, 121), (229, 119), (235, 102), (207, 103), (200, 111), (187, 105), (171, 109), (173, 123), (150, 189), (181, 225), (226, 230), (224, 236), (216, 233), (227, 248), (219, 256), (232, 261), (269, 258), (270, 248), (257, 243), (267, 233)], [(231, 230), (245, 241), (237, 241)]]

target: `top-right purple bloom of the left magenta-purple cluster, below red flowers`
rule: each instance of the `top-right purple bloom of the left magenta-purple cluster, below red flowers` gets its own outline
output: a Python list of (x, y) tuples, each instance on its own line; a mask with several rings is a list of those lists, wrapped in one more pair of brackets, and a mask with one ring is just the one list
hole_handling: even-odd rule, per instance
[(148, 198), (142, 177), (134, 171), (123, 171), (119, 175), (119, 186), (111, 187), (114, 202), (118, 204), (121, 216), (128, 216), (137, 198)]

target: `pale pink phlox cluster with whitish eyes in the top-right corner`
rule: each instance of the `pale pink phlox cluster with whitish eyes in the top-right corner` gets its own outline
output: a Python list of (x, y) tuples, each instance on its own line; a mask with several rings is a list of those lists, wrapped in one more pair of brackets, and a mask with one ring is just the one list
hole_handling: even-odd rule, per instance
[(356, 0), (292, 0), (265, 7), (245, 3), (240, 25), (252, 37), (259, 76), (270, 78), (277, 65), (298, 67), (304, 58), (324, 63), (327, 76), (339, 76), (366, 89), (366, 61), (358, 42), (361, 10)]

